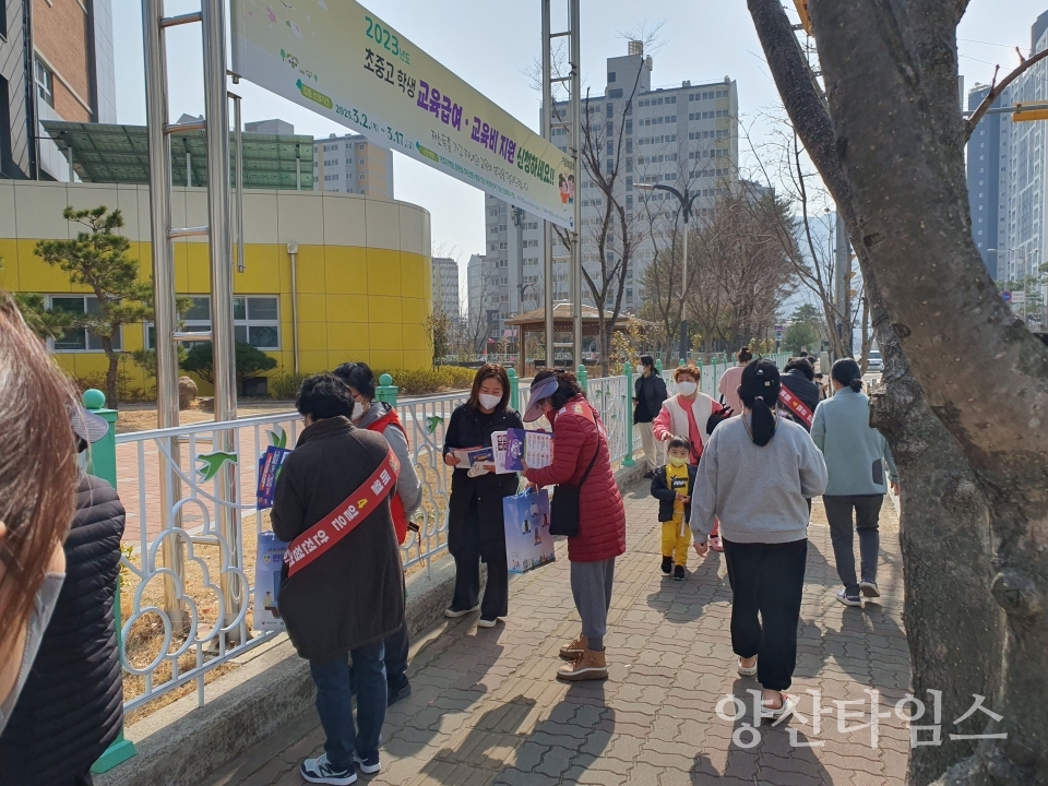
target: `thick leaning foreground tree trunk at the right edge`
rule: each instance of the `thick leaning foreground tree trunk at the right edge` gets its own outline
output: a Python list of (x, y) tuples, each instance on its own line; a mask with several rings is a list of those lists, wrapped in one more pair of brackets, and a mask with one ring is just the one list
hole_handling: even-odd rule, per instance
[(1048, 784), (1048, 352), (975, 249), (957, 100), (963, 0), (810, 0), (858, 237), (914, 377), (990, 505), (1007, 614), (986, 740), (942, 783)]

